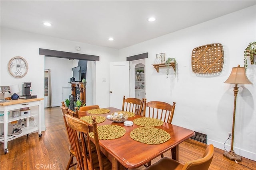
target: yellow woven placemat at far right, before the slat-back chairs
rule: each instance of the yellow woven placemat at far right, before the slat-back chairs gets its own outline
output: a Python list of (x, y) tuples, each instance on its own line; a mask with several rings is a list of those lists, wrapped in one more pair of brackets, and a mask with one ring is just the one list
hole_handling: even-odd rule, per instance
[(154, 127), (154, 126), (162, 126), (164, 122), (160, 119), (155, 119), (151, 117), (140, 117), (140, 118), (134, 119), (133, 123), (139, 126), (144, 126), (144, 127)]

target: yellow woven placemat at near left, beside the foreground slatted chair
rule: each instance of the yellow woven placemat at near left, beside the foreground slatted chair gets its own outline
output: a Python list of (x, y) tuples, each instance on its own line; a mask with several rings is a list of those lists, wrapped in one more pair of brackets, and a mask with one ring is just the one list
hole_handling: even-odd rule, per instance
[[(118, 125), (102, 125), (98, 126), (98, 137), (100, 140), (117, 139), (125, 134), (124, 127)], [(94, 138), (93, 132), (89, 133)]]

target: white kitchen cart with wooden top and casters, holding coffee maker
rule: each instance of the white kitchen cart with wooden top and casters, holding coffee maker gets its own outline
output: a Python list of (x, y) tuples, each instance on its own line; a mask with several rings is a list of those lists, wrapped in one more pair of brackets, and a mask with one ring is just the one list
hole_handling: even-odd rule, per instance
[[(41, 134), (41, 101), (44, 98), (36, 98), (36, 99), (18, 99), (18, 100), (10, 100), (10, 102), (0, 103), (0, 111), (4, 111), (4, 120), (0, 121), (0, 123), (4, 124), (4, 153), (8, 153), (7, 143), (13, 139), (21, 137), (23, 135), (28, 135), (34, 131), (38, 131), (39, 137), (42, 137)], [(18, 117), (11, 117), (11, 111), (19, 110), (24, 107), (34, 107), (37, 106), (36, 113), (31, 112), (29, 115), (22, 115)], [(8, 116), (8, 111), (10, 111), (10, 116)], [(29, 118), (32, 116), (38, 116), (38, 127), (29, 126), (29, 121), (27, 119), (27, 127), (22, 128), (22, 133), (20, 135), (15, 135), (15, 137), (8, 139), (8, 123), (12, 121), (17, 121), (20, 119)]]

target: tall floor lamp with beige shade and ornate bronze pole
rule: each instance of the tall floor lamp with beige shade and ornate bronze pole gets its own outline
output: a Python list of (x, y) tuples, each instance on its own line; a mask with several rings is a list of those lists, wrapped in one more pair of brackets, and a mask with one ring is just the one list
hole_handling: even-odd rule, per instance
[(240, 67), (233, 67), (230, 73), (230, 76), (224, 83), (236, 84), (234, 87), (234, 112), (233, 112), (233, 125), (232, 125), (232, 140), (231, 140), (231, 149), (229, 152), (224, 152), (223, 156), (230, 160), (237, 160), (241, 161), (241, 156), (237, 155), (233, 150), (233, 143), (234, 143), (234, 129), (235, 129), (235, 117), (236, 117), (236, 97), (238, 94), (238, 87), (237, 84), (252, 84), (250, 80), (247, 78), (245, 73), (245, 68)]

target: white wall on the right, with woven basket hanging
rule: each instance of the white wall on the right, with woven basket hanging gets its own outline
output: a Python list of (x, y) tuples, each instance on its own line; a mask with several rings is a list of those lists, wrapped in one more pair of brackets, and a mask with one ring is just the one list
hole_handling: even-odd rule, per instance
[[(224, 84), (232, 67), (243, 66), (244, 49), (256, 37), (255, 6), (188, 27), (162, 37), (120, 50), (120, 57), (148, 52), (146, 59), (146, 98), (176, 102), (172, 123), (207, 134), (207, 143), (223, 148), (232, 131), (234, 84)], [(175, 24), (175, 23), (174, 23)], [(195, 47), (221, 43), (224, 47), (224, 67), (219, 74), (194, 74), (191, 54)], [(178, 76), (170, 68), (153, 68), (156, 54), (166, 53), (178, 62)], [(253, 85), (240, 85), (237, 98), (234, 150), (256, 160), (256, 80), (255, 66), (248, 66), (247, 76)], [(230, 145), (230, 141), (228, 143)], [(230, 147), (226, 147), (228, 150)]]

